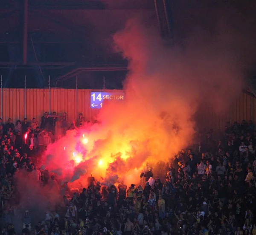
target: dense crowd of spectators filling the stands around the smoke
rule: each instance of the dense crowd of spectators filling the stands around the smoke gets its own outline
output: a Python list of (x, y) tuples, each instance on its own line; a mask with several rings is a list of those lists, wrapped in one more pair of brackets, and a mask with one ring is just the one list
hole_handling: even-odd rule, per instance
[[(37, 169), (35, 162), (55, 141), (58, 121), (64, 135), (66, 113), (44, 113), (40, 127), (36, 119), (17, 121), (16, 125), (11, 119), (6, 124), (0, 119), (2, 215), (12, 206), (13, 175), (18, 169), (31, 172), (44, 183), (51, 178)], [(71, 129), (84, 123), (80, 115)], [(221, 136), (205, 131), (195, 136), (195, 142), (166, 165), (165, 178), (157, 178), (149, 165), (138, 176), (137, 185), (127, 186), (122, 181), (107, 187), (90, 176), (89, 187), (70, 198), (64, 195), (44, 221), (24, 222), (22, 231), (15, 231), (9, 221), (2, 224), (2, 235), (256, 235), (253, 122), (227, 122)]]

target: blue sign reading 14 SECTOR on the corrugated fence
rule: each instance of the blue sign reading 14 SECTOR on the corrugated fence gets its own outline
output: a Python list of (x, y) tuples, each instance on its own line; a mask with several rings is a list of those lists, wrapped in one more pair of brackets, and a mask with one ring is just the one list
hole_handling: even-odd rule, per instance
[(91, 92), (91, 108), (102, 108), (105, 100), (124, 100), (124, 92)]

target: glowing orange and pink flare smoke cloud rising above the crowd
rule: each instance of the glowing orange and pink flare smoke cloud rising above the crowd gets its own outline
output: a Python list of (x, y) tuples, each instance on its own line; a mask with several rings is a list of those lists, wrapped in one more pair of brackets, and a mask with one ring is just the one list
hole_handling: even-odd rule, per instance
[(85, 173), (106, 184), (139, 183), (145, 162), (156, 176), (159, 161), (191, 144), (199, 105), (219, 109), (241, 89), (241, 76), (224, 51), (215, 54), (212, 47), (191, 43), (183, 50), (166, 46), (157, 30), (138, 20), (130, 20), (113, 39), (129, 61), (125, 100), (105, 103), (101, 125), (90, 133), (70, 131), (47, 150), (48, 158), (54, 156), (47, 167), (81, 185), (87, 184)]

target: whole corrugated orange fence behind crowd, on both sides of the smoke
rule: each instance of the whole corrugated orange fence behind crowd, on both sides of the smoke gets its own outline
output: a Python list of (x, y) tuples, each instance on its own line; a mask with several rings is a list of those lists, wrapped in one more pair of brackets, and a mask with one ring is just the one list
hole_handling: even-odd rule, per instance
[[(0, 113), (3, 122), (9, 118), (15, 123), (18, 119), (23, 120), (26, 116), (29, 121), (35, 117), (38, 122), (44, 112), (55, 111), (58, 114), (67, 113), (69, 124), (78, 119), (78, 113), (83, 113), (85, 119), (93, 121), (97, 118), (99, 109), (90, 108), (90, 92), (96, 90), (78, 90), (78, 103), (76, 102), (75, 89), (51, 88), (49, 100), (49, 89), (26, 89), (26, 105), (24, 89), (3, 89), (3, 113)], [(101, 91), (101, 90), (97, 90)], [(113, 92), (113, 90), (105, 90)], [(26, 111), (25, 111), (26, 108)], [(256, 122), (256, 98), (242, 93), (230, 108), (221, 115), (217, 115), (211, 108), (205, 109), (198, 115), (201, 127), (207, 129), (223, 129), (226, 122), (241, 122), (242, 119)]]

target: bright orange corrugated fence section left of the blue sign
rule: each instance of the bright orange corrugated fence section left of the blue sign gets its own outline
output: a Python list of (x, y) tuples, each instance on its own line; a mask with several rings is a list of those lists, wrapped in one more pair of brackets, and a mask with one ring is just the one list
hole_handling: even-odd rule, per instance
[[(18, 119), (23, 121), (25, 116), (29, 121), (35, 117), (40, 124), (44, 112), (55, 111), (59, 115), (66, 112), (69, 124), (78, 119), (79, 113), (83, 113), (85, 119), (92, 122), (97, 118), (99, 109), (90, 108), (91, 91), (96, 90), (77, 90), (77, 103), (75, 89), (51, 88), (50, 97), (49, 89), (26, 89), (25, 105), (24, 89), (3, 89), (3, 107), (0, 109), (3, 113), (0, 113), (0, 117), (3, 122), (11, 118), (13, 123)], [(104, 91), (113, 92), (114, 90)]]

